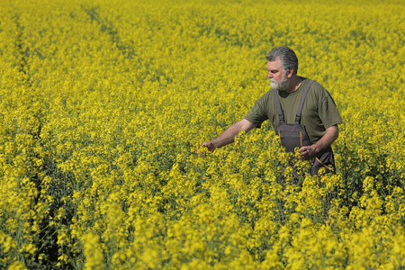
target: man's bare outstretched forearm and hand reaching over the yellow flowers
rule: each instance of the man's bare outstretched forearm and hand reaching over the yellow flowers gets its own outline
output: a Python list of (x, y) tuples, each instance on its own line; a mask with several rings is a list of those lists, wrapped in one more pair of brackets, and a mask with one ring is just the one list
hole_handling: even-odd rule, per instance
[(242, 119), (233, 123), (228, 129), (224, 130), (220, 136), (215, 139), (211, 139), (202, 143), (203, 147), (208, 148), (211, 152), (215, 150), (215, 148), (220, 148), (223, 146), (228, 145), (229, 143), (234, 142), (235, 137), (238, 136), (239, 132), (244, 130), (248, 132), (253, 128), (256, 128), (257, 125), (252, 124), (250, 121), (246, 119)]

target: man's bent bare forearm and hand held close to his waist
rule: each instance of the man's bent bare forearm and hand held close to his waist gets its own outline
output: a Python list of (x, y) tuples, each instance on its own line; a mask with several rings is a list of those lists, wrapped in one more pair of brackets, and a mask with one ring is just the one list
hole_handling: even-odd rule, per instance
[(339, 129), (338, 124), (335, 124), (328, 129), (326, 129), (325, 135), (318, 140), (316, 143), (312, 144), (311, 146), (304, 146), (300, 148), (301, 154), (300, 156), (303, 159), (311, 159), (316, 157), (321, 151), (329, 148), (329, 146), (338, 139), (339, 136)]

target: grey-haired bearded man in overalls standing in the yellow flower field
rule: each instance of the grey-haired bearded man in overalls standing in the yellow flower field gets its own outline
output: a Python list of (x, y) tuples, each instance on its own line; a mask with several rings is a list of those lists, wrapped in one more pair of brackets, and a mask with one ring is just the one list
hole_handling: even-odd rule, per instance
[[(330, 146), (338, 139), (338, 122), (342, 120), (335, 102), (322, 85), (297, 75), (298, 58), (293, 49), (277, 47), (272, 49), (266, 58), (272, 90), (260, 97), (242, 120), (233, 123), (217, 138), (203, 142), (202, 147), (213, 151), (228, 145), (238, 136), (239, 131), (248, 132), (260, 127), (266, 120), (271, 121), (276, 130), (283, 116), (280, 113), (284, 113), (287, 124), (293, 124), (303, 100), (300, 123), (311, 143), (297, 145), (300, 155), (302, 159), (313, 160), (311, 175), (317, 175), (321, 167), (329, 173), (329, 167), (334, 168), (335, 165)], [(306, 86), (309, 88), (305, 89)], [(306, 94), (303, 94), (304, 92)], [(278, 110), (277, 100), (283, 108), (282, 111)]]

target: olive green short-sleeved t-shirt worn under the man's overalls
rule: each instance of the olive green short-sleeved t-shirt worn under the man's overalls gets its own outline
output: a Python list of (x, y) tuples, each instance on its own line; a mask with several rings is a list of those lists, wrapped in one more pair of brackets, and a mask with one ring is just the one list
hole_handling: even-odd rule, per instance
[[(302, 77), (300, 87), (293, 93), (279, 92), (280, 103), (284, 110), (284, 121), (293, 123), (295, 115), (302, 99), (305, 85), (310, 81)], [(260, 97), (250, 112), (247, 112), (245, 119), (251, 123), (261, 126), (267, 119), (272, 123), (273, 128), (279, 122), (277, 105), (275, 104), (274, 90), (270, 90)], [(312, 143), (317, 142), (325, 134), (325, 130), (342, 121), (335, 102), (329, 92), (318, 82), (313, 82), (305, 97), (302, 106), (301, 123), (305, 126)]]

